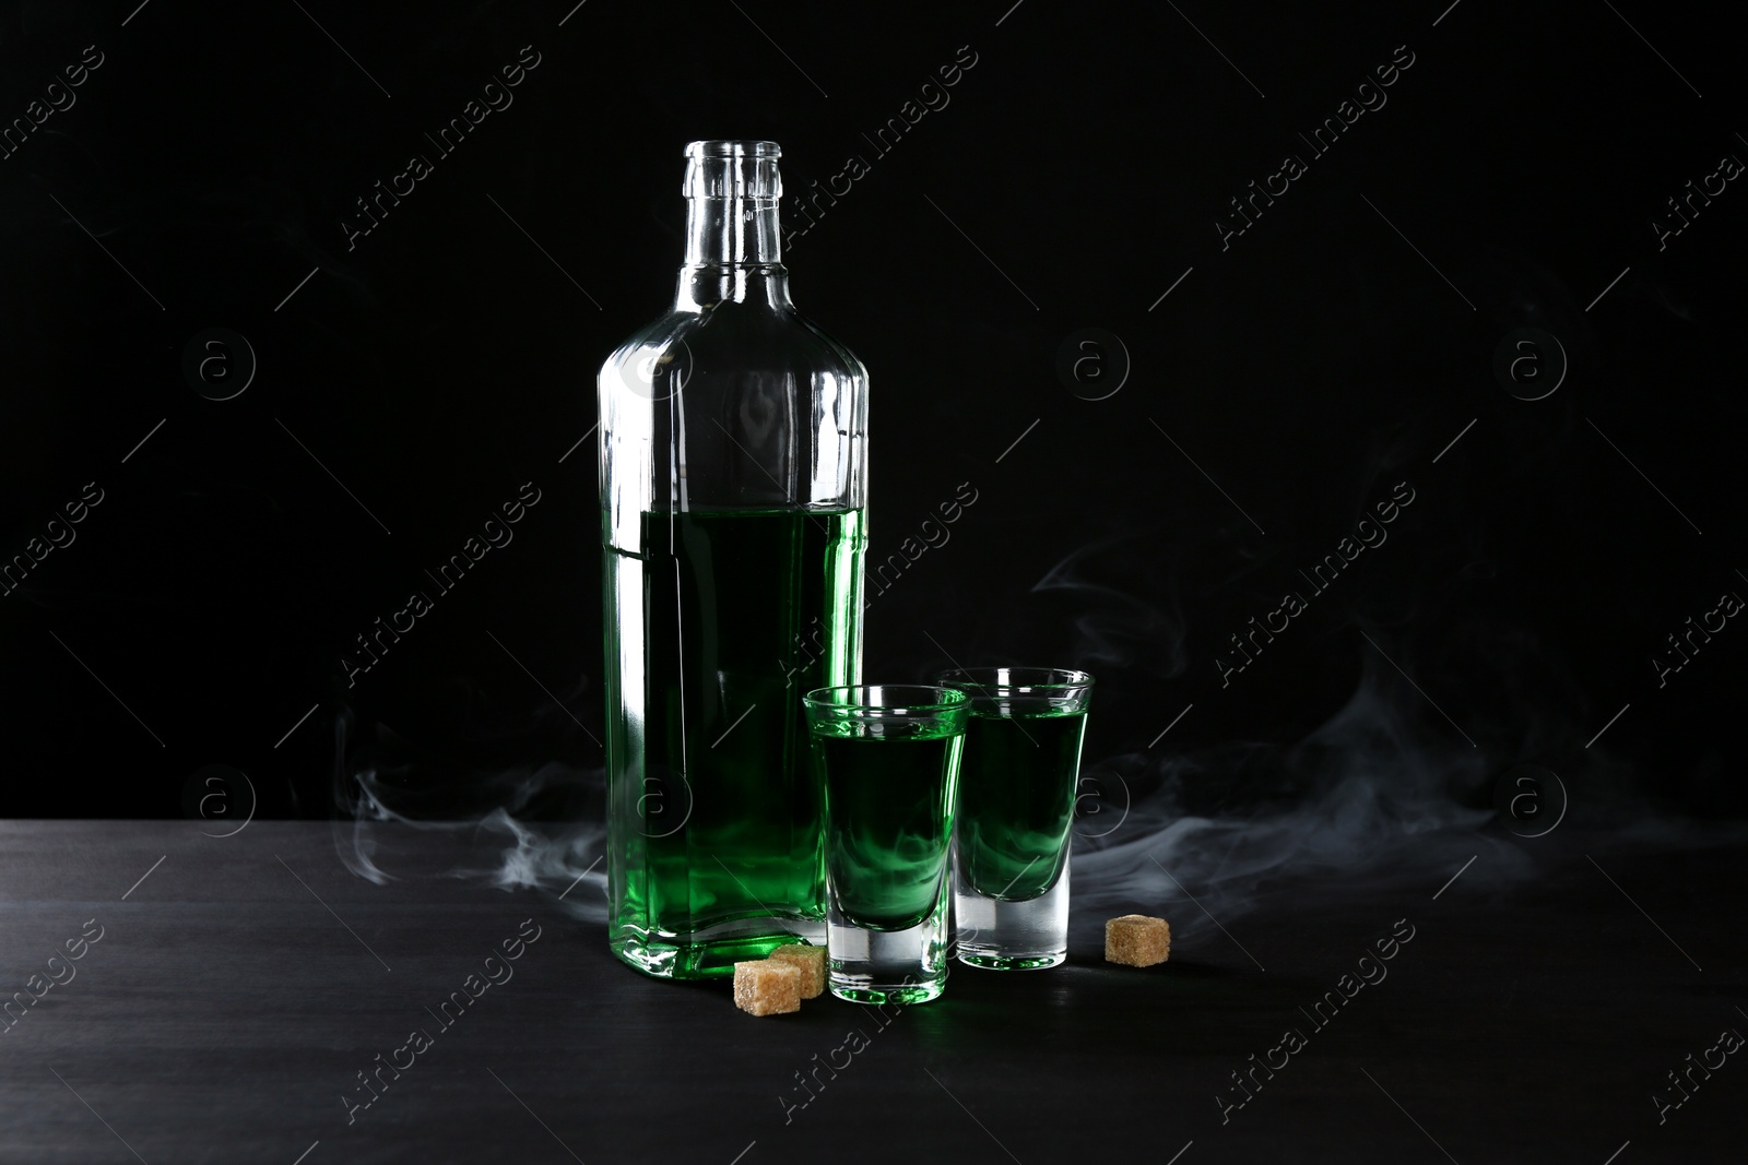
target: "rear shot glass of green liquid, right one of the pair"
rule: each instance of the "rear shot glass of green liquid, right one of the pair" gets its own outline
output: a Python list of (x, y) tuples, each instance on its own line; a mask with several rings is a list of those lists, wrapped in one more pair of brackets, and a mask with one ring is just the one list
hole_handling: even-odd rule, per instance
[(953, 910), (960, 962), (1019, 971), (1068, 957), (1068, 847), (1092, 676), (972, 667), (939, 678), (970, 697), (960, 765)]

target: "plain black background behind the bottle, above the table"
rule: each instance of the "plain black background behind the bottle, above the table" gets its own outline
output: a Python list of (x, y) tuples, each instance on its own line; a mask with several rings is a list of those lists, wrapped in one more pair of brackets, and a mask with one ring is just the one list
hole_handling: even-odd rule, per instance
[[(1486, 807), (1536, 762), (1575, 812), (1738, 816), (1748, 632), (1652, 665), (1748, 594), (1748, 194), (1652, 229), (1748, 157), (1736, 42), (1617, 7), (7, 5), (0, 117), (103, 65), (0, 161), (0, 555), (103, 501), (0, 599), (3, 810), (182, 816), (208, 765), (262, 816), (358, 772), (432, 816), (598, 782), (594, 370), (673, 293), (685, 141), (773, 138), (792, 196), (871, 162), (785, 255), (872, 374), (871, 561), (977, 491), (874, 599), (871, 679), (1087, 667), (1089, 770), (1210, 810), (1363, 760), (1386, 800)], [(523, 45), (514, 105), (437, 157)], [(1313, 157), (1397, 45), (1388, 105)], [(409, 154), (435, 171), (348, 250)], [(1283, 154), (1309, 171), (1222, 248)], [(1058, 374), (1089, 327), (1129, 363), (1103, 400)], [(1521, 327), (1570, 360), (1535, 402), (1495, 374)], [(231, 400), (184, 372), (206, 328), (253, 349)], [(1404, 480), (1388, 543), (1222, 686), (1227, 636)], [(348, 686), (353, 636), (523, 482), (514, 541)]]

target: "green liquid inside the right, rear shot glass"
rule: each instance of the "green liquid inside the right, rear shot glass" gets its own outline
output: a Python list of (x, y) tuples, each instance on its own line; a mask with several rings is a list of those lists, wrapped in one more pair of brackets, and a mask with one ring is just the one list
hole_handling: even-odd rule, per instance
[(960, 868), (988, 898), (1028, 901), (1063, 872), (1086, 713), (972, 711), (960, 770)]

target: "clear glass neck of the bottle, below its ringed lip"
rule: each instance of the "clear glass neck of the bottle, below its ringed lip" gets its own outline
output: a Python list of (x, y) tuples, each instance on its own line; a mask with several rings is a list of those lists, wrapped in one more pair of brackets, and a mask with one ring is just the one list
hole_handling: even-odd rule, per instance
[(724, 302), (788, 307), (776, 213), (778, 201), (767, 197), (689, 197), (675, 306), (682, 311)]

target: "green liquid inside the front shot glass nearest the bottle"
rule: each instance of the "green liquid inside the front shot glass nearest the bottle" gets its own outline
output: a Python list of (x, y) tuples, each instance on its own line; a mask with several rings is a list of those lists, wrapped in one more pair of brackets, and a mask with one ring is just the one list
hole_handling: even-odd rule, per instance
[(871, 931), (918, 926), (946, 886), (963, 737), (813, 737), (823, 772), (832, 896)]

